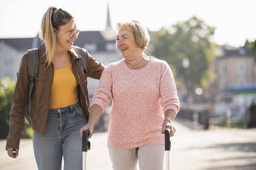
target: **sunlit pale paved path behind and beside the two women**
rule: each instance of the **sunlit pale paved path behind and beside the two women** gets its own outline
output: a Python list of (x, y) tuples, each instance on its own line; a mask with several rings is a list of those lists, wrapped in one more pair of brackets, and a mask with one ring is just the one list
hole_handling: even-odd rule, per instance
[[(170, 163), (175, 170), (255, 170), (256, 129), (191, 130), (176, 123), (171, 138)], [(87, 169), (111, 169), (107, 133), (94, 134), (87, 154)], [(31, 140), (21, 140), (20, 156), (8, 158), (6, 141), (0, 141), (0, 169), (36, 169)]]

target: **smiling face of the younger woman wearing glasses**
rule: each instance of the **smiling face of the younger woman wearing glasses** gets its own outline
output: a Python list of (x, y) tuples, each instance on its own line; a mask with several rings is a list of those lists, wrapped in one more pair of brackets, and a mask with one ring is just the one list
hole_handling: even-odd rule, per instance
[(73, 19), (56, 31), (57, 45), (63, 49), (72, 49), (73, 42), (76, 39), (76, 23)]

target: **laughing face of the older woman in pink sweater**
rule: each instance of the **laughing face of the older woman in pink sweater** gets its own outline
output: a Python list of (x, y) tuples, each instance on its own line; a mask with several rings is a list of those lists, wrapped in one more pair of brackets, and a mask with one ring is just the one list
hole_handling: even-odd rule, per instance
[(118, 32), (118, 35), (116, 36), (116, 47), (119, 49), (120, 53), (122, 53), (123, 57), (132, 55), (133, 53), (138, 52), (138, 50), (142, 50), (138, 47), (134, 34), (125, 30)]

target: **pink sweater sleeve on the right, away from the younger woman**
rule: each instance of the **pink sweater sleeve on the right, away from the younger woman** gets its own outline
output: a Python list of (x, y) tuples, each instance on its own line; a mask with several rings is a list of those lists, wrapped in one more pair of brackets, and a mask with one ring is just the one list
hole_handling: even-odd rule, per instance
[(180, 110), (180, 101), (178, 99), (173, 73), (167, 62), (163, 62), (160, 74), (160, 103), (162, 108), (164, 112), (172, 109), (177, 114)]

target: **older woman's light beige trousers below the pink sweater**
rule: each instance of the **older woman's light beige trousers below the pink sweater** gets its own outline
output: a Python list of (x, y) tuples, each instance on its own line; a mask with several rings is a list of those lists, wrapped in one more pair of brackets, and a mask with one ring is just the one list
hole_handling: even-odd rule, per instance
[(132, 149), (111, 149), (109, 156), (113, 170), (162, 170), (164, 145), (145, 145)]

